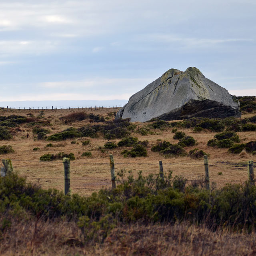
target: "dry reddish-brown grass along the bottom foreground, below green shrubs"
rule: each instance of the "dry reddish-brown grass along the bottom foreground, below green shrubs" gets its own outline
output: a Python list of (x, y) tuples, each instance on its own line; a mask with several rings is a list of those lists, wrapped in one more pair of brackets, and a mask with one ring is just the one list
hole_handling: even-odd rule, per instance
[(256, 234), (212, 232), (186, 222), (170, 224), (118, 224), (103, 244), (84, 244), (74, 222), (29, 220), (13, 222), (1, 238), (3, 256), (64, 255), (256, 255)]

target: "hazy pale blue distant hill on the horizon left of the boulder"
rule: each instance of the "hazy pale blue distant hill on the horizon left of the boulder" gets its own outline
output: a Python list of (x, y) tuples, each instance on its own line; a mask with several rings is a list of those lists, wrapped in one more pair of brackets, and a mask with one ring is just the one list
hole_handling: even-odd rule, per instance
[(128, 100), (41, 100), (41, 101), (2, 101), (0, 107), (6, 108), (82, 108), (123, 106)]

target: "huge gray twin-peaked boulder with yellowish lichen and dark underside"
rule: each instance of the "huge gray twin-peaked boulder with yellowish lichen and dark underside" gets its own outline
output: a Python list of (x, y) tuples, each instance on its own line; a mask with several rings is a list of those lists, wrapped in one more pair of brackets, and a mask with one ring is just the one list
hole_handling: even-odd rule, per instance
[(132, 122), (152, 118), (178, 120), (192, 117), (240, 117), (240, 103), (226, 89), (207, 79), (197, 68), (170, 69), (132, 95), (117, 114)]

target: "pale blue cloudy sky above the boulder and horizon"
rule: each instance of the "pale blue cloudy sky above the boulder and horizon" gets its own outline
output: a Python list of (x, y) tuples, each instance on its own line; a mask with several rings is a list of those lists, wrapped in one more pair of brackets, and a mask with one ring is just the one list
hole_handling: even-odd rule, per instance
[(255, 0), (1, 0), (0, 101), (127, 99), (195, 66), (256, 95)]

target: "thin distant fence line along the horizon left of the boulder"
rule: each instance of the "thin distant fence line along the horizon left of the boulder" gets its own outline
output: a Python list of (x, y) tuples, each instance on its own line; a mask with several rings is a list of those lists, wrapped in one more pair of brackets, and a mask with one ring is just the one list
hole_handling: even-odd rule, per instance
[(3, 111), (12, 111), (12, 110), (14, 110), (14, 111), (16, 111), (16, 110), (75, 110), (75, 109), (78, 109), (78, 110), (100, 110), (100, 109), (111, 109), (111, 108), (113, 108), (113, 109), (116, 109), (116, 108), (122, 108), (124, 106), (124, 104), (122, 104), (122, 106), (121, 105), (116, 105), (116, 106), (95, 106), (95, 107), (92, 107), (92, 106), (90, 106), (90, 107), (77, 107), (77, 108), (75, 108), (75, 107), (64, 107), (64, 108), (62, 108), (61, 106), (60, 107), (58, 107), (58, 106), (56, 106), (56, 108), (54, 108), (53, 106), (50, 106), (49, 108), (48, 108), (48, 106), (46, 106), (45, 108), (44, 107), (42, 107), (42, 108), (40, 108), (40, 107), (37, 107), (37, 108), (35, 108), (35, 107), (33, 107), (33, 108), (16, 108), (16, 107), (14, 107), (14, 108), (12, 108), (12, 107), (9, 107), (9, 106), (6, 106), (6, 108), (5, 107), (2, 107), (2, 110)]

